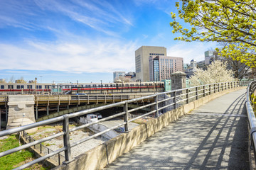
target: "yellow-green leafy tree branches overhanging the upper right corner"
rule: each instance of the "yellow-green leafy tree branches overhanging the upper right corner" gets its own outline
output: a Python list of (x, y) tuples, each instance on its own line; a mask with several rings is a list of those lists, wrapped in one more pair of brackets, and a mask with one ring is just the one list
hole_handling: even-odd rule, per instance
[(175, 40), (236, 42), (221, 50), (222, 55), (256, 67), (255, 0), (180, 1), (182, 7), (176, 2), (178, 17), (190, 23), (191, 28), (183, 28), (176, 21), (176, 13), (171, 13), (172, 33), (182, 35)]

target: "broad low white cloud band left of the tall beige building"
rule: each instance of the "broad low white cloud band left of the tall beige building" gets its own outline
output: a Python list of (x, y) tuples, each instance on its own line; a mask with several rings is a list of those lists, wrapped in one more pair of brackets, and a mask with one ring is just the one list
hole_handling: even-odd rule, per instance
[(0, 69), (114, 72), (134, 70), (135, 42), (83, 40), (0, 44)]

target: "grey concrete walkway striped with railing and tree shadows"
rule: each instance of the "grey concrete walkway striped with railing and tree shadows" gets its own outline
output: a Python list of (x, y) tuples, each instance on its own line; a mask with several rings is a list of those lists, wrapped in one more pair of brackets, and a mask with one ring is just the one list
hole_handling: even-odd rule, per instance
[(245, 90), (171, 123), (105, 169), (250, 169)]

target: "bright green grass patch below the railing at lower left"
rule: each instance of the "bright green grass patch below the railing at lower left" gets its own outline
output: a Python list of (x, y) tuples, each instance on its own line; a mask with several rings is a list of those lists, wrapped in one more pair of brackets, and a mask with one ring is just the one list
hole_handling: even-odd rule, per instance
[[(18, 147), (18, 140), (16, 135), (10, 135), (9, 138), (5, 140), (0, 140), (0, 152)], [(21, 162), (24, 162), (26, 159), (33, 157), (33, 153), (22, 150), (21, 152), (14, 152), (12, 154), (6, 155), (0, 158), (0, 170), (14, 169), (17, 166), (21, 166)], [(29, 168), (28, 168), (29, 169)], [(44, 167), (39, 167), (39, 169), (45, 169)]]

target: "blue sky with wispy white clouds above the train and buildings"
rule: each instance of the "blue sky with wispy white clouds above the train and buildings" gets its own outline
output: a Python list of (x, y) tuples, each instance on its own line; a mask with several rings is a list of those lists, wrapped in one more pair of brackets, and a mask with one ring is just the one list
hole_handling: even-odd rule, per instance
[[(135, 72), (135, 50), (204, 60), (213, 42), (171, 33), (175, 0), (0, 0), (0, 79), (41, 83), (110, 82)], [(178, 20), (182, 22), (181, 20)]]

